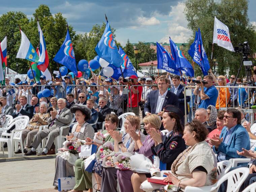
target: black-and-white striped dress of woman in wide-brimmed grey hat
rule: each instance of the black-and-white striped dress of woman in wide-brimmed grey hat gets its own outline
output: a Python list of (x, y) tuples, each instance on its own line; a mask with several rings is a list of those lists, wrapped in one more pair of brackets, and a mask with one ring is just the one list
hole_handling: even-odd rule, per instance
[[(94, 129), (90, 124), (85, 123), (79, 132), (75, 132), (77, 125), (78, 123), (73, 126), (71, 131), (76, 136), (76, 138), (85, 140), (87, 137), (89, 137), (93, 139)], [(78, 158), (79, 157), (77, 154), (77, 159)], [(63, 178), (63, 177), (75, 177), (74, 168), (71, 163), (61, 158), (61, 156), (57, 155), (55, 159), (55, 177), (54, 177), (53, 186), (58, 187), (58, 178)]]

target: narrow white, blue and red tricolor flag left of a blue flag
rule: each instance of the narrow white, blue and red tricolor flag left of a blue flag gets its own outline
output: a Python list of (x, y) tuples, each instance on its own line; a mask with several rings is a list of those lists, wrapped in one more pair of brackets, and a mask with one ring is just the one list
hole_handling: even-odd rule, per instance
[(38, 33), (40, 37), (40, 55), (39, 55), (39, 62), (37, 64), (37, 68), (40, 71), (45, 71), (49, 65), (49, 57), (46, 50), (46, 44), (43, 36), (43, 32), (41, 30), (41, 27), (39, 25), (39, 22), (37, 21), (37, 27), (38, 27)]

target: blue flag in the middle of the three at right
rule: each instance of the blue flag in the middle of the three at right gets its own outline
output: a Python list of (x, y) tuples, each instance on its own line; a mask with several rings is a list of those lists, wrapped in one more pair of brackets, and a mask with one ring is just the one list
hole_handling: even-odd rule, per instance
[(186, 75), (193, 77), (194, 69), (188, 62), (182, 51), (170, 38), (171, 55), (176, 64), (177, 69), (185, 71)]

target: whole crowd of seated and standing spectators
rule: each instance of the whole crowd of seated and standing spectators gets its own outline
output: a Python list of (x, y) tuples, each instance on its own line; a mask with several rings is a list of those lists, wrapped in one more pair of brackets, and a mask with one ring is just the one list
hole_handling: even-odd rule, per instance
[[(165, 181), (181, 189), (216, 183), (217, 162), (256, 157), (256, 148), (250, 141), (256, 139), (256, 124), (248, 122), (248, 114), (243, 109), (250, 98), (249, 92), (243, 88), (246, 84), (239, 85), (242, 79), (238, 78), (238, 85), (234, 84), (235, 75), (230, 79), (222, 75), (216, 78), (210, 69), (209, 75), (196, 77), (200, 82), (194, 84), (192, 78), (178, 75), (140, 79), (132, 75), (116, 81), (103, 80), (91, 72), (89, 79), (71, 75), (62, 79), (56, 75), (55, 82), (50, 83), (44, 75), (34, 84), (20, 79), (12, 83), (5, 78), (6, 86), (0, 91), (0, 127), (6, 125), (6, 115), (30, 119), (22, 130), (22, 142), (26, 139), (26, 145), (23, 149), (23, 145), (19, 145), (15, 154), (53, 154), (54, 140), (60, 132), (67, 141), (81, 140), (99, 150), (104, 143), (96, 142), (94, 136), (101, 134), (104, 142), (113, 144), (113, 152), (142, 154), (152, 163), (157, 156), (169, 170)], [(253, 78), (256, 80), (256, 72)], [(187, 87), (191, 95), (184, 94)], [(10, 89), (15, 93), (11, 94)], [(37, 93), (44, 89), (51, 91), (50, 97), (38, 97)], [(120, 122), (118, 117), (126, 112), (133, 112), (135, 116), (129, 115), (125, 122)], [(122, 124), (121, 133), (118, 128)], [(47, 128), (39, 130), (42, 125)], [(63, 126), (67, 128), (60, 131)], [(13, 129), (15, 126), (7, 132)], [(41, 146), (45, 139), (45, 145)], [(37, 154), (38, 147), (42, 150)], [(89, 172), (85, 170), (86, 158), (76, 153), (72, 154), (72, 161), (70, 159), (67, 151), (58, 152), (53, 185), (58, 188), (58, 178), (75, 177), (71, 192), (91, 192), (93, 177), (98, 191), (139, 192), (143, 191), (141, 184), (151, 177), (150, 173), (104, 167), (103, 159), (97, 159)], [(241, 190), (256, 180), (255, 165), (254, 162)]]

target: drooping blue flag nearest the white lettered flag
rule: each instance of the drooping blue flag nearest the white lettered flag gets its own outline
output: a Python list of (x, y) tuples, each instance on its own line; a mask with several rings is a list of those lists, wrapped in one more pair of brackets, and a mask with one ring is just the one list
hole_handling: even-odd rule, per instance
[(203, 41), (201, 37), (200, 29), (198, 28), (195, 52), (193, 56), (193, 61), (201, 67), (203, 75), (208, 74), (208, 70), (210, 69), (210, 64), (207, 58), (207, 55), (203, 48)]

